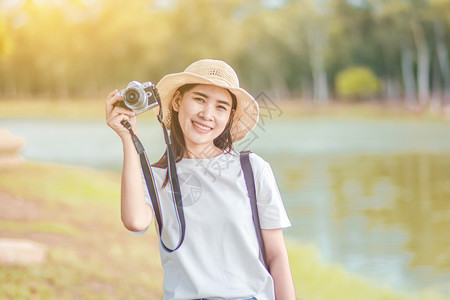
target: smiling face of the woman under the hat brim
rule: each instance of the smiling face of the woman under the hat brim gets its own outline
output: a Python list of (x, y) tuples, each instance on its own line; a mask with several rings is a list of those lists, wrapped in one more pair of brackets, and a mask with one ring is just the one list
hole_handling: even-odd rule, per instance
[(232, 98), (224, 88), (199, 84), (182, 96), (176, 94), (173, 109), (178, 112), (186, 148), (199, 153), (214, 147), (214, 139), (224, 131), (232, 112)]

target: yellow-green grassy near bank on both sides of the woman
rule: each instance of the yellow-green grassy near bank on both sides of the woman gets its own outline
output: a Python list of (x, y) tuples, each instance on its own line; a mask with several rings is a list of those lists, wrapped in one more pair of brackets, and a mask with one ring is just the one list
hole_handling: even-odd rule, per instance
[[(0, 268), (0, 298), (161, 299), (156, 234), (136, 237), (123, 228), (119, 184), (117, 173), (78, 167), (0, 170), (0, 237), (49, 248), (43, 265)], [(298, 299), (440, 299), (378, 287), (323, 264), (306, 245), (289, 242), (288, 249)]]

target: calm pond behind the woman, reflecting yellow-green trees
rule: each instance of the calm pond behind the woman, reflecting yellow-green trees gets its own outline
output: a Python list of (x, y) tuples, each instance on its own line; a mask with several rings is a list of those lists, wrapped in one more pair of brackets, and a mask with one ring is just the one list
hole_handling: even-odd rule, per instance
[[(160, 126), (140, 120), (154, 161)], [(120, 170), (120, 139), (100, 120), (2, 119), (30, 160)], [(326, 262), (395, 290), (450, 294), (450, 122), (266, 120), (238, 150), (268, 160), (293, 226)]]

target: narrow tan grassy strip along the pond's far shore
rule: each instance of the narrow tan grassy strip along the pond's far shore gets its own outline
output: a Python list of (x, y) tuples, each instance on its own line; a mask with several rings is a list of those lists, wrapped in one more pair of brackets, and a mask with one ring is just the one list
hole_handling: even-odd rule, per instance
[[(104, 98), (53, 100), (53, 99), (2, 99), (1, 117), (44, 117), (44, 118), (104, 118)], [(276, 106), (275, 106), (276, 105)], [(265, 100), (260, 103), (262, 114), (290, 118), (364, 118), (397, 120), (450, 120), (450, 111), (442, 109), (407, 109), (401, 105), (373, 103), (331, 102), (326, 106), (313, 105), (311, 101)], [(153, 114), (142, 114), (139, 118), (154, 118)], [(267, 118), (267, 116), (266, 116)]]

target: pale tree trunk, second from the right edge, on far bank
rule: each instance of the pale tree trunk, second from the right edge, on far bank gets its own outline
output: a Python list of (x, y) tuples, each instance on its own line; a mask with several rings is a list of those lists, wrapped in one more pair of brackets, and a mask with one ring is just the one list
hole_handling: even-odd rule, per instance
[(417, 47), (417, 85), (419, 104), (424, 107), (430, 98), (430, 51), (422, 27), (412, 23), (414, 41)]

